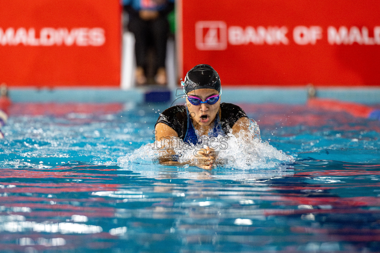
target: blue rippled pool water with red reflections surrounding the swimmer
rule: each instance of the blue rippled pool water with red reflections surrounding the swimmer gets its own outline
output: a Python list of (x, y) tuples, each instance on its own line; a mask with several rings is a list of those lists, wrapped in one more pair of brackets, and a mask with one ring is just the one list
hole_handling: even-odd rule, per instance
[(294, 162), (203, 171), (131, 160), (167, 106), (11, 116), (0, 252), (380, 251), (379, 121), (242, 104)]

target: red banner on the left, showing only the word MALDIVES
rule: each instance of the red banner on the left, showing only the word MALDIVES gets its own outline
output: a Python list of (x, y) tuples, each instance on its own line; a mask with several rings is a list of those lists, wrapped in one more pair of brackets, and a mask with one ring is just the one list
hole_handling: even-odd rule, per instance
[(119, 86), (119, 0), (1, 1), (0, 82)]

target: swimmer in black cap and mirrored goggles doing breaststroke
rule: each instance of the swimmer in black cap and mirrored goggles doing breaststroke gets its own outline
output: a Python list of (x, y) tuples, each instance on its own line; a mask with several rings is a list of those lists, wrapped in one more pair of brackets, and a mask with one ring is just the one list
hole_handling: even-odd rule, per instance
[[(222, 95), (220, 77), (210, 65), (199, 64), (190, 69), (182, 86), (184, 86), (186, 105), (175, 105), (161, 113), (155, 125), (157, 141), (180, 138), (185, 143), (197, 145), (203, 136), (226, 136), (231, 130), (233, 135), (241, 130), (249, 133), (253, 120), (247, 117), (244, 110), (234, 104), (220, 103)], [(165, 149), (167, 154), (161, 158), (175, 157), (174, 150), (169, 150), (165, 142), (161, 148)], [(203, 148), (196, 150), (196, 155), (193, 157), (195, 160), (188, 159), (188, 162), (180, 164), (212, 170), (216, 160), (213, 151), (212, 148), (204, 145)], [(161, 159), (160, 163), (179, 165), (175, 159), (172, 161)]]

